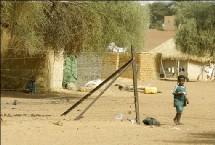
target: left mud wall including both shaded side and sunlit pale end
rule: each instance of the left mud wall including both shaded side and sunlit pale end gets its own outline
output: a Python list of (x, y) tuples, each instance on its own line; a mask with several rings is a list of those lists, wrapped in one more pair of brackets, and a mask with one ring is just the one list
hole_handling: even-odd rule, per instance
[(63, 64), (63, 51), (30, 56), (26, 50), (9, 49), (1, 61), (1, 89), (24, 90), (32, 76), (36, 76), (37, 92), (61, 89)]

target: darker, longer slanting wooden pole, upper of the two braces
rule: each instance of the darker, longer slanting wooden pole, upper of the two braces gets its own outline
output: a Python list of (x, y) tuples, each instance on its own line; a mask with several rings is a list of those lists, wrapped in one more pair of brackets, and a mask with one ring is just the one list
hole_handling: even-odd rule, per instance
[(75, 107), (77, 107), (79, 104), (81, 104), (85, 99), (87, 99), (91, 94), (93, 94), (96, 90), (101, 88), (105, 83), (107, 83), (110, 79), (112, 79), (114, 76), (116, 76), (121, 69), (124, 69), (127, 67), (129, 63), (131, 63), (132, 60), (128, 61), (126, 64), (124, 64), (120, 69), (115, 71), (111, 76), (109, 76), (106, 80), (104, 80), (101, 84), (99, 84), (96, 88), (94, 88), (92, 91), (90, 91), (88, 94), (86, 94), (84, 97), (82, 97), (80, 100), (78, 100), (72, 107), (70, 107), (67, 111), (65, 111), (61, 116), (68, 114), (70, 111), (72, 111)]

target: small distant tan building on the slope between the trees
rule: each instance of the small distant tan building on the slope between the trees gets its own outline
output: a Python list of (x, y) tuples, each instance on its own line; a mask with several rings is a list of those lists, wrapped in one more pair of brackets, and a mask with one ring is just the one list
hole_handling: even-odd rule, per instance
[(175, 16), (164, 16), (164, 31), (174, 31), (175, 26)]

